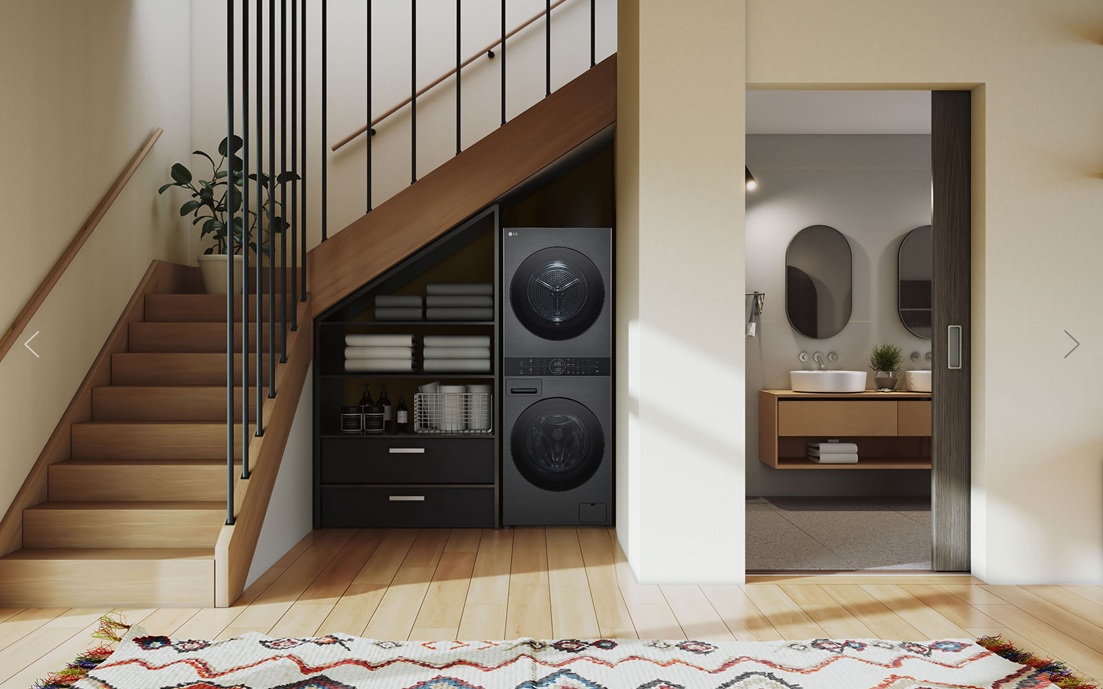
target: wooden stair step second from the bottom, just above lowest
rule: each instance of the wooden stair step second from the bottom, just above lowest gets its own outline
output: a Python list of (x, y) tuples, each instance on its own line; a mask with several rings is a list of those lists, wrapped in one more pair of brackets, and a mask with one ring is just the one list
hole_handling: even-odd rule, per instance
[(67, 500), (23, 510), (24, 548), (213, 548), (226, 503)]

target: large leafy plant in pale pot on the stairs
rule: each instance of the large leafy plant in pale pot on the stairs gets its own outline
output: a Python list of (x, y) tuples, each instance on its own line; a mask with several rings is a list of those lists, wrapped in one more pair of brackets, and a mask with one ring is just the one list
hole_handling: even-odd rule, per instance
[[(260, 256), (269, 255), (269, 247), (272, 234), (279, 234), (290, 229), (291, 225), (281, 215), (279, 202), (268, 198), (269, 176), (260, 173), (250, 174), (249, 180), (260, 184), (263, 203), (260, 208), (250, 208), (248, 223), (242, 216), (242, 186), (244, 179), (242, 169), (244, 162), (237, 152), (242, 149), (240, 137), (223, 139), (218, 144), (218, 161), (203, 151), (193, 151), (193, 155), (202, 155), (211, 164), (210, 180), (197, 180), (192, 172), (181, 163), (172, 165), (172, 182), (161, 185), (158, 194), (163, 194), (173, 186), (188, 190), (191, 197), (180, 206), (181, 217), (192, 216), (192, 226), (200, 225), (200, 237), (207, 235), (214, 240), (214, 245), (204, 249), (197, 257), (200, 273), (203, 276), (203, 287), (208, 294), (226, 293), (226, 261), (234, 257), (234, 286), (235, 294), (242, 292), (244, 280), (244, 255), (243, 247), (248, 246), (249, 250), (257, 255), (257, 241), (255, 233), (260, 238)], [(229, 164), (227, 165), (227, 161)], [(232, 169), (232, 170), (231, 170)], [(276, 183), (282, 184), (291, 180), (299, 179), (292, 172), (281, 172), (276, 175)], [(229, 183), (233, 180), (233, 184)], [(251, 193), (251, 190), (250, 190)], [(234, 227), (232, 232), (226, 228), (226, 214), (234, 213)], [(243, 232), (243, 227), (247, 229)]]

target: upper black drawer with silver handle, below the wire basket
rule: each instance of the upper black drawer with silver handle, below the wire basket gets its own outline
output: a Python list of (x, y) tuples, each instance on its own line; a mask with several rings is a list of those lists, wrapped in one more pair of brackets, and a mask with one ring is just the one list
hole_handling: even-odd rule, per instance
[(492, 438), (332, 438), (322, 483), (494, 483)]

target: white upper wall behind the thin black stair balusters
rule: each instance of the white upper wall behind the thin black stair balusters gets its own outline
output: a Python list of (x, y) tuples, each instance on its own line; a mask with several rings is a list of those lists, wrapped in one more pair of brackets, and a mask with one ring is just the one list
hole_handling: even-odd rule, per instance
[[(267, 2), (263, 3), (267, 8)], [(192, 140), (201, 149), (213, 149), (226, 136), (225, 88), (225, 3), (218, 0), (192, 0), (191, 61), (194, 74), (192, 100)], [(251, 6), (255, 9), (255, 6)], [(329, 2), (329, 143), (351, 133), (366, 121), (365, 23), (363, 0)], [(506, 30), (512, 30), (544, 11), (543, 0), (510, 0)], [(373, 3), (373, 112), (382, 115), (410, 94), (410, 15), (408, 2), (375, 0)], [(465, 60), (501, 35), (501, 3), (497, 0), (464, 0), (461, 55)], [(596, 54), (608, 57), (617, 50), (617, 2), (597, 0)], [(422, 0), (417, 6), (417, 84), (420, 88), (456, 66), (456, 3), (451, 0)], [(250, 17), (254, 25), (255, 14)], [(279, 26), (279, 10), (276, 23)], [(267, 9), (266, 20), (267, 22)], [(321, 240), (321, 66), (318, 29), (321, 3), (309, 2), (309, 69), (307, 121), (309, 127), (309, 166), (307, 245)], [(240, 17), (237, 19), (240, 25)], [(278, 29), (277, 29), (278, 31)], [(266, 23), (267, 32), (267, 23)], [(537, 21), (508, 40), (506, 45), (507, 117), (513, 118), (544, 97), (544, 22)], [(250, 34), (250, 43), (255, 33)], [(255, 51), (255, 44), (253, 51)], [(497, 51), (495, 51), (497, 53)], [(264, 51), (267, 63), (267, 44)], [(277, 45), (277, 60), (279, 45)], [(256, 116), (255, 53), (250, 53), (250, 117)], [(481, 57), (462, 73), (462, 146), (471, 146), (493, 131), (500, 122), (500, 60)], [(552, 11), (552, 88), (577, 77), (590, 64), (590, 3), (567, 0)], [(267, 66), (265, 67), (265, 107), (267, 108)], [(279, 78), (277, 75), (277, 91)], [(290, 93), (290, 91), (289, 91)], [(280, 109), (277, 93), (277, 110)], [(267, 118), (267, 115), (266, 115)], [(238, 106), (240, 120), (240, 106)], [(276, 118), (279, 127), (279, 112)], [(268, 121), (265, 120), (265, 129)], [(373, 204), (379, 205), (410, 183), (409, 108), (384, 120), (372, 142)], [(255, 131), (255, 128), (254, 128)], [(267, 133), (265, 134), (267, 140)], [(279, 142), (277, 141), (277, 147)], [(326, 149), (328, 150), (328, 149)], [(366, 207), (366, 139), (360, 137), (335, 153), (328, 153), (329, 218), (333, 235), (363, 215)], [(456, 152), (454, 80), (418, 98), (417, 154), (418, 176), (446, 162)], [(267, 149), (266, 149), (267, 155)], [(268, 163), (264, 163), (265, 170)], [(196, 233), (197, 235), (197, 233)], [(201, 252), (197, 236), (193, 252)]]

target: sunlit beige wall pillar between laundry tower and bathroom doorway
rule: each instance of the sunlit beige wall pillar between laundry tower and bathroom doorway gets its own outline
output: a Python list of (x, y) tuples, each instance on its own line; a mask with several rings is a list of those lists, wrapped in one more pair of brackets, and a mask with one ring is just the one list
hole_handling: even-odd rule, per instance
[(618, 21), (618, 535), (642, 581), (741, 581), (743, 6)]

